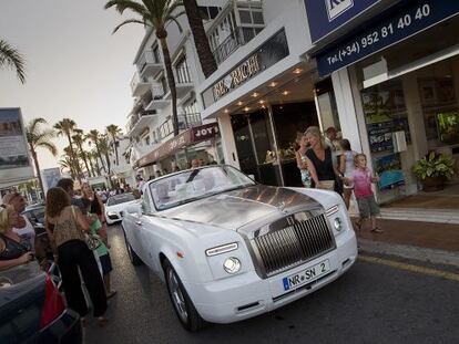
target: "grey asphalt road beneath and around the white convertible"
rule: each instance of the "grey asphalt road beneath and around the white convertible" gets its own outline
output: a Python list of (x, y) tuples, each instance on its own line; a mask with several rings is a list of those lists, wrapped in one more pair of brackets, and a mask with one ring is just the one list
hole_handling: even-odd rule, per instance
[(459, 341), (459, 281), (449, 278), (457, 274), (425, 274), (373, 259), (359, 260), (338, 281), (276, 312), (191, 334), (176, 320), (165, 285), (146, 267), (129, 262), (120, 226), (110, 227), (110, 236), (119, 293), (106, 327), (86, 326), (88, 344)]

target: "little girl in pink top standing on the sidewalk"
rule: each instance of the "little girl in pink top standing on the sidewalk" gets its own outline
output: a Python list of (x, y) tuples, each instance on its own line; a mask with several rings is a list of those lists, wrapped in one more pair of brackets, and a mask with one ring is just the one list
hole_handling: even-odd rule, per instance
[(376, 204), (375, 196), (371, 190), (371, 183), (379, 181), (379, 177), (374, 177), (371, 170), (367, 167), (367, 157), (365, 154), (357, 154), (354, 158), (356, 168), (349, 178), (345, 178), (347, 185), (354, 184), (354, 194), (357, 198), (360, 219), (356, 223), (360, 230), (364, 220), (370, 218), (371, 232), (381, 233), (382, 230), (376, 223), (376, 216), (380, 215), (379, 207)]

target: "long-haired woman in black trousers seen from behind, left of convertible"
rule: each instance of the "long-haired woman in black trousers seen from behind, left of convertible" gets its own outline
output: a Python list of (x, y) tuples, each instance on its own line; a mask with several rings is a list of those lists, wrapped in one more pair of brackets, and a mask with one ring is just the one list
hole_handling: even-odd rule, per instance
[(79, 268), (93, 304), (93, 315), (99, 325), (106, 319), (106, 295), (102, 277), (93, 252), (85, 242), (90, 225), (81, 210), (70, 204), (69, 195), (62, 188), (47, 192), (47, 231), (58, 252), (58, 264), (69, 307), (80, 313), (81, 321), (88, 314), (88, 305), (81, 289)]

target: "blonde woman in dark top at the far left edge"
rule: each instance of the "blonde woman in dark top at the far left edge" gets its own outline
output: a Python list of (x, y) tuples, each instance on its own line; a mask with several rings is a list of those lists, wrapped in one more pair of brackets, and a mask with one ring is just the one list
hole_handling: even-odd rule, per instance
[(11, 206), (0, 207), (0, 270), (9, 269), (33, 260), (33, 254), (12, 230), (18, 213)]

